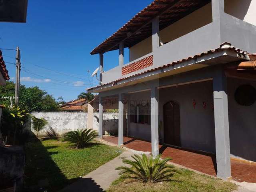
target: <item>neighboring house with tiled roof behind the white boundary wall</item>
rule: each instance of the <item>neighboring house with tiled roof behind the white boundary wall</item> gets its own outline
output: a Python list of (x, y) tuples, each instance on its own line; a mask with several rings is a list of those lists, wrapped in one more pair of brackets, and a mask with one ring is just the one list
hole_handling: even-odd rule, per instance
[(87, 106), (86, 99), (75, 99), (69, 102), (62, 104), (61, 110), (62, 111), (84, 111), (84, 108)]

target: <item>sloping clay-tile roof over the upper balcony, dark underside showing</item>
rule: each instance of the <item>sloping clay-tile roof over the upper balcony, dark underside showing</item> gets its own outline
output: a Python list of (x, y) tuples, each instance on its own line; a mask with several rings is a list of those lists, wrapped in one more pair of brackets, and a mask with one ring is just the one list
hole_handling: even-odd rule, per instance
[(119, 48), (118, 44), (121, 41), (124, 41), (124, 47), (131, 47), (152, 35), (151, 21), (156, 16), (159, 16), (159, 30), (162, 30), (209, 2), (211, 1), (154, 0), (124, 24), (124, 26), (94, 48), (91, 54), (116, 50)]

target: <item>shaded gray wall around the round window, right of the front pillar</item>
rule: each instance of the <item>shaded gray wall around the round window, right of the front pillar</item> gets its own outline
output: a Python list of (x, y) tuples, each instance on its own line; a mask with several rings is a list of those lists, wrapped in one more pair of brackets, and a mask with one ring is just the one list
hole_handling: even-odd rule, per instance
[(256, 161), (256, 103), (241, 106), (234, 99), (236, 88), (256, 82), (228, 78), (228, 114), (230, 129), (230, 153), (232, 156)]

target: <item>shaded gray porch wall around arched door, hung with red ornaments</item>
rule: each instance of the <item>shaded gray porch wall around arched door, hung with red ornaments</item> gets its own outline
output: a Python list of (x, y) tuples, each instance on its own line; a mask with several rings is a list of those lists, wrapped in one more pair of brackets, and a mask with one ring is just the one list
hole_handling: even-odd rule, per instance
[[(215, 153), (214, 110), (212, 81), (160, 89), (159, 118), (163, 122), (163, 106), (174, 100), (180, 104), (181, 146)], [(193, 100), (196, 106), (193, 107)], [(206, 102), (206, 108), (203, 108)]]

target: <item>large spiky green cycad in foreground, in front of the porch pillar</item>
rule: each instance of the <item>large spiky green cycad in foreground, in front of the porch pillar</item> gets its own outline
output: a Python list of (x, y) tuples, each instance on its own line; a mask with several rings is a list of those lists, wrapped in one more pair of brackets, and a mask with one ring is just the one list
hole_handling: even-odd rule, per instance
[(131, 167), (121, 166), (116, 170), (122, 170), (119, 174), (128, 173), (130, 177), (142, 182), (159, 182), (172, 177), (174, 173), (179, 173), (174, 166), (167, 164), (171, 158), (160, 160), (160, 155), (150, 156), (149, 158), (142, 154), (132, 156), (134, 160), (124, 159), (123, 163), (131, 165)]

